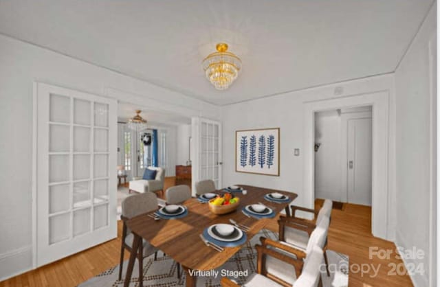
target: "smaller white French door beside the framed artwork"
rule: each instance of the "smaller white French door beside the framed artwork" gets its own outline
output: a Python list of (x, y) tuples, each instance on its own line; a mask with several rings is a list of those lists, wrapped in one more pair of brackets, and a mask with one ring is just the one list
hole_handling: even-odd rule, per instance
[(192, 192), (195, 183), (211, 179), (221, 188), (221, 123), (201, 117), (192, 118)]

